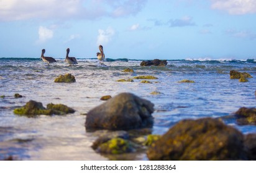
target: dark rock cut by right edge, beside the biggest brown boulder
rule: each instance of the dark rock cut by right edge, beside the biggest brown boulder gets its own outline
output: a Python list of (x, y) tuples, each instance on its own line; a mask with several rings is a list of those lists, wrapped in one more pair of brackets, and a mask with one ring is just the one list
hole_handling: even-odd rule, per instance
[(256, 133), (245, 135), (244, 146), (247, 150), (247, 155), (250, 160), (256, 160)]

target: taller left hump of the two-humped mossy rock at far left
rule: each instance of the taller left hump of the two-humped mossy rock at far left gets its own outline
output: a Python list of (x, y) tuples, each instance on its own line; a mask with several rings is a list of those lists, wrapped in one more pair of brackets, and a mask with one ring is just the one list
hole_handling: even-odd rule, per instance
[(45, 109), (43, 107), (43, 104), (34, 100), (30, 100), (23, 106), (22, 108), (16, 108), (14, 109), (14, 114), (20, 115), (20, 116), (28, 116), (28, 117), (34, 117), (37, 115), (51, 115), (53, 114), (53, 111), (50, 109)]

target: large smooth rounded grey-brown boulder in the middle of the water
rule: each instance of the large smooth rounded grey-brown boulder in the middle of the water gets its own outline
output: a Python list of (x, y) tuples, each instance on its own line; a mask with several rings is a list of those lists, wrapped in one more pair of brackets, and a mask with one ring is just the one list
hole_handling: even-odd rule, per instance
[(128, 130), (153, 125), (153, 103), (131, 93), (121, 93), (88, 112), (86, 130)]

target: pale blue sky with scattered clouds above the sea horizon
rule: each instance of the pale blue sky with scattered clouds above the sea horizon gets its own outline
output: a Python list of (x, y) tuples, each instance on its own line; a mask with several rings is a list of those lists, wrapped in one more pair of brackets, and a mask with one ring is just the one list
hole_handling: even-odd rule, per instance
[(255, 59), (256, 0), (0, 0), (0, 57)]

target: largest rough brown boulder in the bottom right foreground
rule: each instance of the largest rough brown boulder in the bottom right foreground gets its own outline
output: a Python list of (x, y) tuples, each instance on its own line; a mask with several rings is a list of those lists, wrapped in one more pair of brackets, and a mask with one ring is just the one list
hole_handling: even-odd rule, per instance
[(244, 160), (243, 139), (237, 129), (221, 120), (181, 120), (147, 151), (150, 160)]

